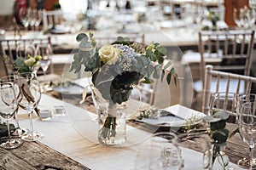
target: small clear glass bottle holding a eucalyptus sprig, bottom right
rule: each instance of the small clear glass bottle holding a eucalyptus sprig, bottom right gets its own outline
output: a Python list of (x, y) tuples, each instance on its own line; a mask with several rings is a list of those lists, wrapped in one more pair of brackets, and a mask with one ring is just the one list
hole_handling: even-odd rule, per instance
[(230, 168), (229, 156), (225, 153), (226, 144), (212, 144), (212, 148), (204, 153), (204, 169), (228, 170)]

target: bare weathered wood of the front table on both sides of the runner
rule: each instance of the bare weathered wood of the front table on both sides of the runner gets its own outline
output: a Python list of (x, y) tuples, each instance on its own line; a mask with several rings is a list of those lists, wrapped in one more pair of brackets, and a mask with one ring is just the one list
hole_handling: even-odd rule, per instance
[[(74, 105), (78, 105), (79, 102), (75, 102), (78, 101), (78, 99), (80, 98), (73, 97), (70, 99), (70, 102)], [(84, 105), (86, 105), (86, 107), (84, 107)], [(90, 96), (84, 105), (78, 106), (92, 112), (95, 111)], [(130, 121), (128, 124), (152, 133), (170, 130), (170, 128), (149, 128), (141, 122)], [(236, 129), (236, 126), (234, 127), (234, 125), (230, 124), (228, 125), (228, 128), (231, 132), (233, 132), (234, 129)], [(204, 149), (202, 148), (202, 144), (205, 142), (206, 138), (207, 135), (202, 135), (201, 138), (188, 139), (186, 141), (179, 142), (179, 145), (185, 148), (203, 152)], [(5, 150), (0, 148), (0, 153), (0, 169), (90, 169), (88, 167), (84, 167), (84, 165), (80, 164), (78, 161), (74, 161), (68, 156), (63, 155), (40, 142), (24, 142), (24, 144), (22, 144), (19, 148), (13, 150)], [(243, 157), (248, 158), (248, 146), (242, 141), (239, 133), (236, 133), (234, 136), (228, 139), (226, 153), (229, 156), (230, 161), (235, 164)]]

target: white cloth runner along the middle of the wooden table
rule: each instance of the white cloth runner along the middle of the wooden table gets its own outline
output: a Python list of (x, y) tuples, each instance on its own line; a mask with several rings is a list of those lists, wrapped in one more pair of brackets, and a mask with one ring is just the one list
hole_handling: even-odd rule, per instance
[[(44, 133), (40, 142), (91, 169), (148, 169), (150, 133), (127, 126), (125, 144), (98, 144), (95, 114), (47, 95), (42, 96), (39, 108), (52, 109), (54, 105), (64, 105), (67, 116), (54, 116), (50, 121), (44, 122), (34, 118), (34, 130)], [(24, 111), (19, 113), (20, 127), (29, 127), (29, 120), (22, 113)], [(185, 160), (183, 169), (203, 169), (201, 153), (186, 148), (181, 150)], [(240, 169), (234, 164), (231, 166)]]

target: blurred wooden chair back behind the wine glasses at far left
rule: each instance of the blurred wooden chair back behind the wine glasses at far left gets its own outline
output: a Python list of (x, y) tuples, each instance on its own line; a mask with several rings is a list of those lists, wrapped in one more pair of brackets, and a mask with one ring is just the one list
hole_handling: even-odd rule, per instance
[(1, 39), (0, 57), (3, 59), (4, 71), (7, 75), (12, 73), (12, 65), (17, 57), (26, 57), (27, 54), (36, 54), (38, 46), (44, 47), (50, 43), (50, 37)]

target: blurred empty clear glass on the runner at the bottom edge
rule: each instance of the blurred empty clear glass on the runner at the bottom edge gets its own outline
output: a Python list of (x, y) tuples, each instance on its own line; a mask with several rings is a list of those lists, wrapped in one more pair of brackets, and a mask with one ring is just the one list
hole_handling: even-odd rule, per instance
[(153, 169), (180, 169), (182, 159), (177, 147), (177, 135), (170, 132), (154, 133), (151, 137), (149, 167)]

